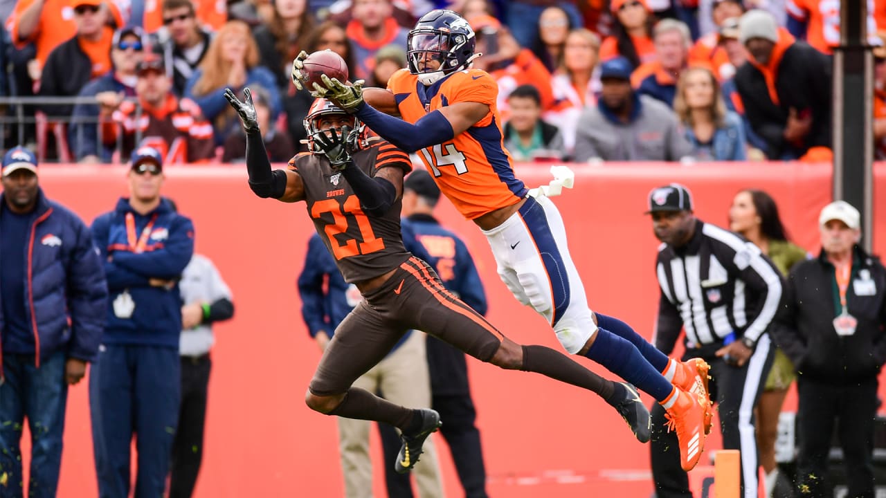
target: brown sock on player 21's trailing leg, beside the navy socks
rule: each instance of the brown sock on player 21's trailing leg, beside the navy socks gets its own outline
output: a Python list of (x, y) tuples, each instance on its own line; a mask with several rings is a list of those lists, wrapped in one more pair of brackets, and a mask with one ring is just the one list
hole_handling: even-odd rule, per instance
[(550, 347), (523, 346), (523, 367), (521, 370), (540, 373), (566, 384), (578, 385), (600, 395), (609, 401), (615, 393), (615, 383), (587, 370), (578, 362), (573, 362), (565, 354), (557, 353)]

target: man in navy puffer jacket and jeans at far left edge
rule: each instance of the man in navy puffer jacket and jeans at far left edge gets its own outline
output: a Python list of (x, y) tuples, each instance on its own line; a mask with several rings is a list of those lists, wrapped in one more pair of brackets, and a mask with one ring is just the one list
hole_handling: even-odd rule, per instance
[(28, 496), (55, 496), (67, 385), (96, 358), (107, 287), (89, 229), (46, 198), (37, 159), (6, 152), (0, 196), (0, 494), (21, 496), (19, 440), (31, 432)]

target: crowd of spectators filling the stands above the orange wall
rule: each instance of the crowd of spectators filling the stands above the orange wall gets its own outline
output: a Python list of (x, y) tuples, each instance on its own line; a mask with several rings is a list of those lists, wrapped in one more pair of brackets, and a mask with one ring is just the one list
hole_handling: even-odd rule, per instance
[[(299, 51), (336, 51), (352, 80), (384, 88), (406, 66), (408, 29), (445, 7), (477, 34), (474, 66), (499, 83), (515, 160), (828, 160), (839, 4), (818, 4), (7, 0), (0, 95), (82, 98), (26, 105), (25, 125), (7, 106), (3, 148), (24, 136), (41, 160), (125, 162), (151, 145), (167, 164), (242, 161), (221, 94), (248, 85), (273, 130), (272, 160), (284, 161), (311, 104), (289, 78)], [(868, 18), (882, 45), (886, 2), (872, 1)], [(886, 48), (875, 59), (884, 158)]]

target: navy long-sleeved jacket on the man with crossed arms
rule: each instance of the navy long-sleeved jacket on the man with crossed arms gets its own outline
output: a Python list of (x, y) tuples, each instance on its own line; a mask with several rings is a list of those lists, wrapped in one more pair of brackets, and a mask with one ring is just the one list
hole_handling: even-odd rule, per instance
[[(127, 230), (131, 215), (134, 227)], [(153, 222), (144, 249), (136, 251), (136, 241)], [(128, 233), (129, 232), (129, 233)], [(178, 279), (194, 253), (194, 225), (175, 213), (166, 199), (147, 214), (138, 214), (128, 198), (120, 198), (117, 208), (96, 218), (92, 237), (105, 261), (108, 280), (107, 326), (104, 344), (167, 346), (178, 349), (182, 331), (182, 298)], [(152, 286), (150, 280), (175, 281), (169, 287)], [(131, 315), (115, 313), (114, 301), (135, 305)]]

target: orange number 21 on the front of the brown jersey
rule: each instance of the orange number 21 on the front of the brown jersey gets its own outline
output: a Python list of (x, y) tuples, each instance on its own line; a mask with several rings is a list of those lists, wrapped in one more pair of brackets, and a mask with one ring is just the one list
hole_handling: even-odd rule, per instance
[[(328, 223), (326, 237), (330, 240), (332, 247), (332, 255), (336, 260), (356, 256), (358, 254), (369, 254), (381, 251), (385, 248), (385, 241), (377, 238), (372, 231), (372, 225), (369, 224), (369, 218), (360, 208), (360, 200), (355, 195), (347, 196), (344, 203), (340, 203), (337, 199), (327, 198), (319, 200), (311, 206), (311, 217), (318, 219), (323, 214), (332, 214), (332, 222)], [(348, 214), (357, 222), (357, 229), (360, 230), (362, 242), (359, 244), (354, 237), (349, 237), (345, 245), (340, 245), (337, 235), (347, 234), (348, 232)]]

